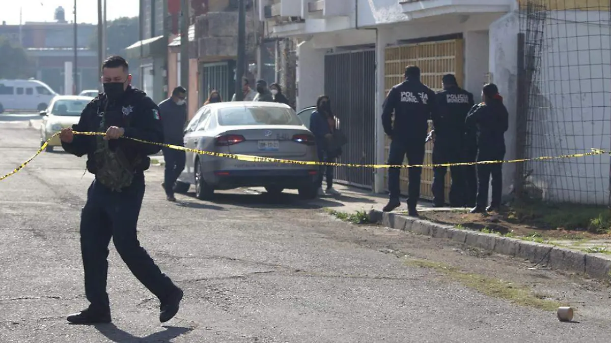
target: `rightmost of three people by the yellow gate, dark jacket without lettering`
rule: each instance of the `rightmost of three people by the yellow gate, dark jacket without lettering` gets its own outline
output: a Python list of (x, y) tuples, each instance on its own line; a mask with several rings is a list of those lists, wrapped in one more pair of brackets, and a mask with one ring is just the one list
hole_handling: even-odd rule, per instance
[[(486, 84), (481, 90), (482, 103), (475, 105), (465, 121), (467, 132), (477, 139), (477, 162), (502, 161), (505, 158), (505, 131), (509, 127), (509, 114), (495, 84)], [(488, 183), (492, 176), (492, 201), (488, 204)], [(498, 211), (503, 192), (503, 164), (477, 165), (477, 203), (471, 213)]]

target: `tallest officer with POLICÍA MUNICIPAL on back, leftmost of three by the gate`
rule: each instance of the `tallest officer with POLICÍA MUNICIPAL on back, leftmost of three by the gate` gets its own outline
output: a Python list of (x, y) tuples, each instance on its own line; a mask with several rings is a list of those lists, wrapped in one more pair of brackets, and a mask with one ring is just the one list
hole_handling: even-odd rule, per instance
[[(390, 89), (382, 110), (384, 132), (391, 140), (389, 165), (403, 164), (406, 156), (410, 165), (423, 164), (428, 120), (435, 111), (435, 92), (420, 82), (420, 68), (410, 65), (405, 68), (404, 76), (404, 82)], [(391, 120), (393, 111), (394, 123)], [(422, 167), (409, 168), (408, 172), (408, 212), (415, 217), (418, 215), (416, 205), (420, 198)], [(401, 206), (400, 173), (401, 168), (389, 168), (390, 200), (382, 209), (384, 212)]]

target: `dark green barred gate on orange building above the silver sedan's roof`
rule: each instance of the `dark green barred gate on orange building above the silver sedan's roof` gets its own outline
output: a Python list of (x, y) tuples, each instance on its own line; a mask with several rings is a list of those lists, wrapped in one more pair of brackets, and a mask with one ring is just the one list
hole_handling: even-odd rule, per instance
[(203, 102), (208, 99), (212, 90), (218, 90), (223, 101), (231, 101), (235, 93), (234, 71), (235, 61), (202, 63), (200, 64), (200, 98)]

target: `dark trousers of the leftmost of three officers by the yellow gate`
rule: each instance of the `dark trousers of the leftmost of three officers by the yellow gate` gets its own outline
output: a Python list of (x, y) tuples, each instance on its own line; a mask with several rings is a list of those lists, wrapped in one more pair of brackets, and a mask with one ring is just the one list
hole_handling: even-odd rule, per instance
[[(425, 152), (424, 141), (424, 138), (412, 142), (392, 140), (390, 142), (388, 164), (403, 164), (404, 157), (408, 157), (408, 164), (422, 164), (424, 162)], [(409, 168), (408, 170), (408, 208), (415, 209), (420, 198), (420, 175), (422, 175), (422, 167)], [(401, 195), (400, 173), (401, 168), (389, 168), (388, 170), (388, 189), (391, 199), (398, 199)]]

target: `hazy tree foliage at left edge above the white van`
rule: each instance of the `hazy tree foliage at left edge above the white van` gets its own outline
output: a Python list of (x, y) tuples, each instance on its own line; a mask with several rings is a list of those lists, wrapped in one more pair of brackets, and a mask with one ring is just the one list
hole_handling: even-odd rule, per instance
[(31, 78), (32, 62), (26, 50), (12, 44), (8, 38), (0, 35), (0, 79)]

